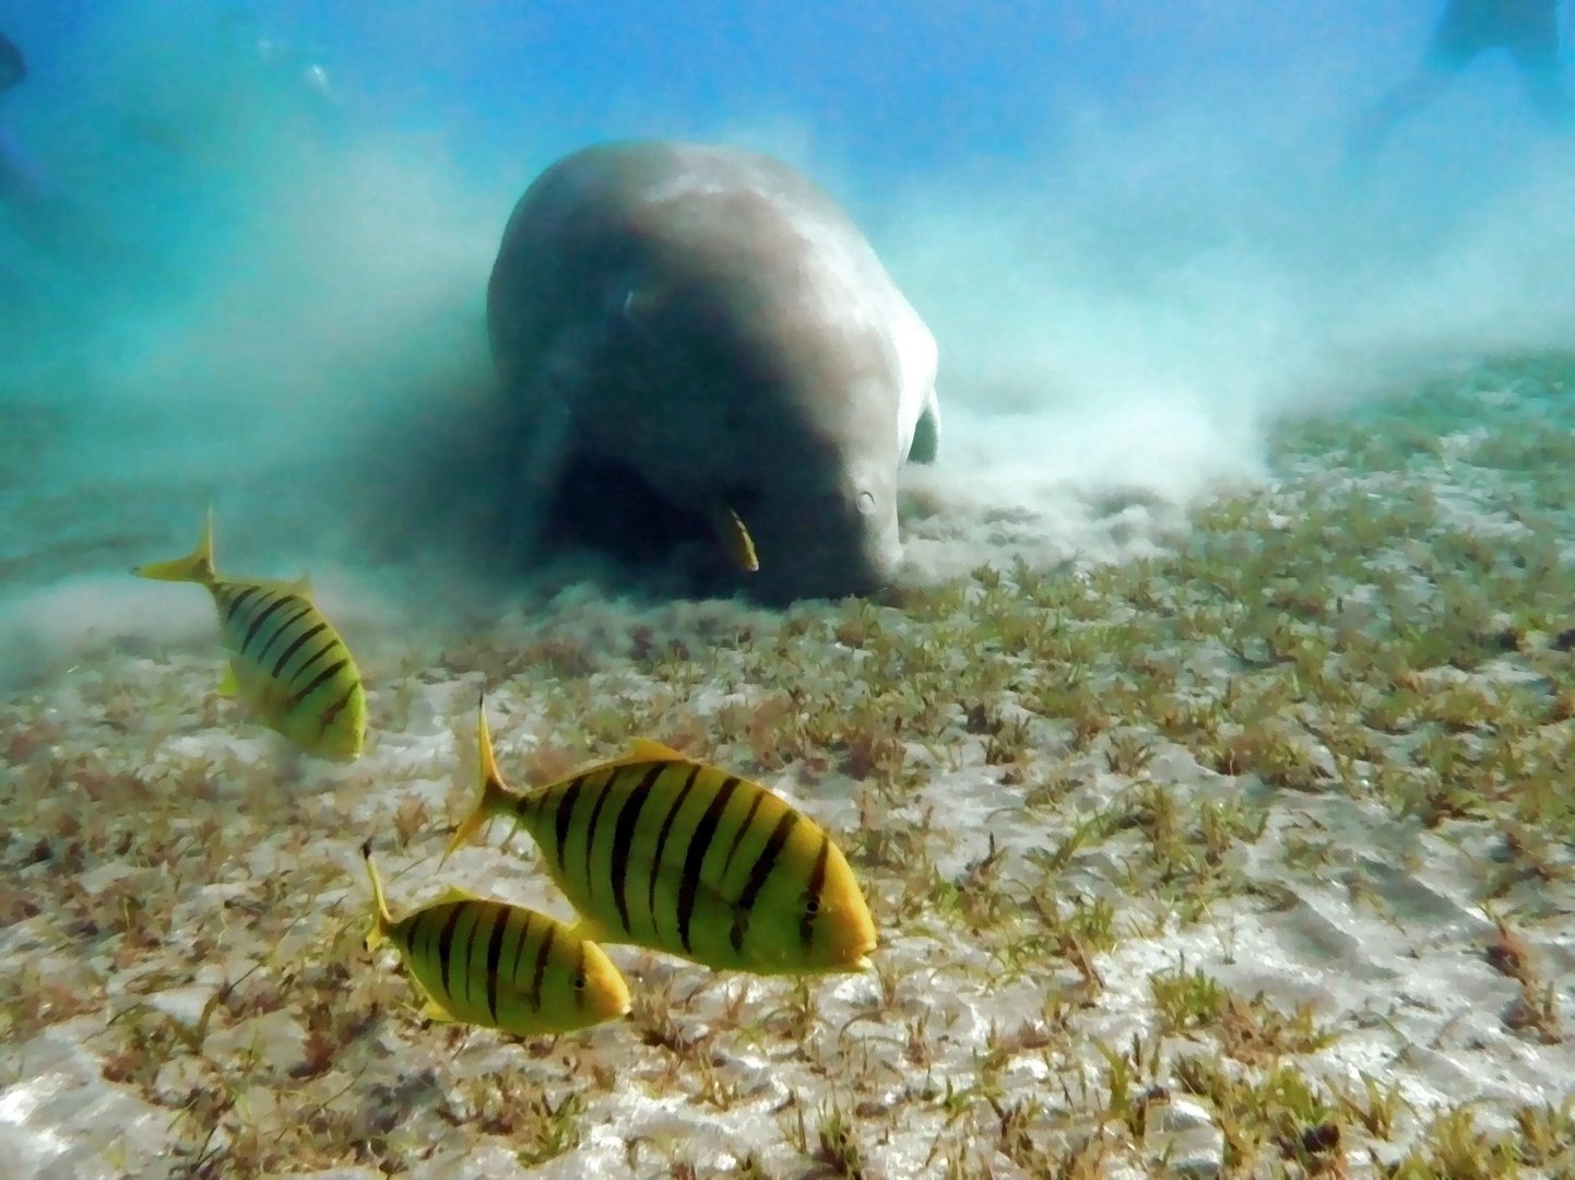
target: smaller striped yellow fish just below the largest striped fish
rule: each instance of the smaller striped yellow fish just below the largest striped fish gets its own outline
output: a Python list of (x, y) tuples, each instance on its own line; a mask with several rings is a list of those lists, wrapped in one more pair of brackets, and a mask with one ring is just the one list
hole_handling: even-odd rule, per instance
[(606, 952), (524, 906), (450, 889), (397, 922), (372, 863), (367, 950), (392, 942), (427, 997), (424, 1015), (515, 1037), (573, 1032), (628, 1011), (628, 985)]

